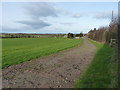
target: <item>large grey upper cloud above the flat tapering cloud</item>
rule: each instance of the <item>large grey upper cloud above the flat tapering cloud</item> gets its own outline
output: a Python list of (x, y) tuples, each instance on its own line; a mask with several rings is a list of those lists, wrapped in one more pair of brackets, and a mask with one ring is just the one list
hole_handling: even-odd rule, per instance
[(30, 3), (25, 7), (27, 14), (31, 15), (32, 17), (57, 17), (57, 10), (55, 9), (54, 5), (51, 3)]

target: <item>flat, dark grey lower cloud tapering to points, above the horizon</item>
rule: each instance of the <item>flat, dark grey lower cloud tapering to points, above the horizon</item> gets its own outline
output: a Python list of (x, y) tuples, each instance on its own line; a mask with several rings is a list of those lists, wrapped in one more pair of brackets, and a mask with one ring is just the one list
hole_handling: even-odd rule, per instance
[(24, 25), (29, 26), (31, 29), (41, 29), (43, 27), (50, 26), (51, 24), (48, 24), (42, 20), (29, 20), (29, 21), (16, 21), (17, 23), (21, 23)]

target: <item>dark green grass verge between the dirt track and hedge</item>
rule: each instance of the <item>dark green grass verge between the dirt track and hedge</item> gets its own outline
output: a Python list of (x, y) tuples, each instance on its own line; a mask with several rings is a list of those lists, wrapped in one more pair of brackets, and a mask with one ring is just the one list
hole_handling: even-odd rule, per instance
[(77, 81), (77, 88), (116, 88), (117, 85), (117, 60), (116, 50), (108, 45), (90, 40), (96, 47), (96, 55)]

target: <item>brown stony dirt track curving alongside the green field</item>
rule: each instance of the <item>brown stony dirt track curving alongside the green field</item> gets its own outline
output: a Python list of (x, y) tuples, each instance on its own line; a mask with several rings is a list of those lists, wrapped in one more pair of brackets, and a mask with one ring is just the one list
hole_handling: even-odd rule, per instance
[(3, 69), (5, 88), (74, 88), (95, 55), (87, 39), (82, 46)]

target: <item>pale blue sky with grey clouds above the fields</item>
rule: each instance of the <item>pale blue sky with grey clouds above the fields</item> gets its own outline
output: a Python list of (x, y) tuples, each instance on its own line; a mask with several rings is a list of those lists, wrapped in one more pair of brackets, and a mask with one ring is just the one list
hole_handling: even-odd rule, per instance
[(115, 17), (118, 10), (117, 2), (4, 2), (0, 8), (1, 5), (3, 33), (87, 33), (108, 26), (112, 10)]

